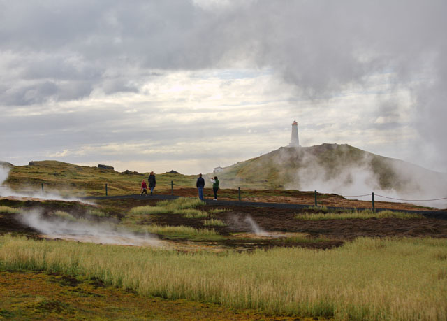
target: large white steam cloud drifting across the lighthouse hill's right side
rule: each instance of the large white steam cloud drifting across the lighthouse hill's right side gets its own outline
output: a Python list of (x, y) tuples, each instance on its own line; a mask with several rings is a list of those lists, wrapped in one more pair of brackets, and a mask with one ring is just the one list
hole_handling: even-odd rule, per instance
[[(332, 145), (333, 146), (333, 145)], [(337, 148), (344, 149), (344, 145)], [(328, 163), (321, 163), (312, 152), (302, 149), (300, 166), (287, 188), (335, 193), (347, 198), (370, 201), (411, 200), (422, 206), (446, 207), (447, 200), (418, 201), (447, 197), (447, 177), (397, 159), (382, 158), (365, 152), (356, 162), (347, 154), (337, 155)], [(358, 197), (365, 195), (365, 197)], [(380, 196), (379, 196), (380, 195)], [(389, 197), (386, 198), (386, 197)]]

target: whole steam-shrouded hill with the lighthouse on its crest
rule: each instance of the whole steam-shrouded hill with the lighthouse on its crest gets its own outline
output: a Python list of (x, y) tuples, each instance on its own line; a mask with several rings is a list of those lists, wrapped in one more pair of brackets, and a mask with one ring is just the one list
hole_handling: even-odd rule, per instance
[(316, 190), (365, 201), (371, 201), (374, 192), (375, 201), (447, 207), (447, 199), (442, 199), (447, 197), (446, 174), (346, 144), (279, 148), (229, 169), (221, 174), (223, 187), (256, 182), (265, 183), (265, 188)]

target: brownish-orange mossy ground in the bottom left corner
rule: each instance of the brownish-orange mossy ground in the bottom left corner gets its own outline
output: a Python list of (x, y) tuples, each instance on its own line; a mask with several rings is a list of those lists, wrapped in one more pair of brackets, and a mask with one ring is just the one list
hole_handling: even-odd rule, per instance
[(141, 297), (101, 280), (57, 273), (2, 271), (0, 298), (0, 319), (7, 320), (314, 320)]

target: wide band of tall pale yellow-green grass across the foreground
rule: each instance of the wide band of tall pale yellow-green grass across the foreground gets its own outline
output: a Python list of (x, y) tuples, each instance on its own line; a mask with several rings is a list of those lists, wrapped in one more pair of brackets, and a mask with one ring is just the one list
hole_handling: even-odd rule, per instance
[(0, 268), (96, 277), (145, 296), (337, 320), (446, 320), (447, 240), (359, 238), (302, 248), (194, 255), (0, 236)]

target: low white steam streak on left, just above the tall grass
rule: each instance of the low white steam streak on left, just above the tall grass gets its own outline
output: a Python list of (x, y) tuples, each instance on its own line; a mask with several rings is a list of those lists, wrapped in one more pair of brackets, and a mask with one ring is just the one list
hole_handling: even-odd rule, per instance
[(161, 241), (154, 236), (135, 234), (111, 223), (69, 221), (60, 217), (48, 217), (38, 209), (20, 213), (17, 217), (22, 224), (36, 229), (47, 238), (101, 244), (161, 246)]

